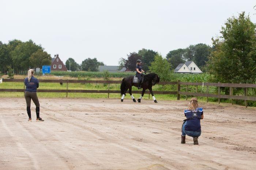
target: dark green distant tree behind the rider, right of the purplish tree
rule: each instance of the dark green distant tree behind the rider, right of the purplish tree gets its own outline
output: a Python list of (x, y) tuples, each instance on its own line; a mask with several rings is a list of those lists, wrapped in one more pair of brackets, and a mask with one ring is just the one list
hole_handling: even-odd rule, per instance
[(155, 55), (157, 55), (157, 52), (153, 50), (146, 50), (142, 49), (138, 51), (138, 55), (142, 56), (142, 66), (143, 70), (147, 71), (149, 70), (150, 63), (154, 61)]

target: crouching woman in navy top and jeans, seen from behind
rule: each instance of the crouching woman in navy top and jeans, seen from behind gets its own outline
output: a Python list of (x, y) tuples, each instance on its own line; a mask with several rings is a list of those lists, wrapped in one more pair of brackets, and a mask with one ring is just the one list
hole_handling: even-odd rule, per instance
[(181, 127), (181, 143), (186, 143), (186, 135), (193, 137), (194, 144), (198, 144), (198, 137), (201, 135), (200, 120), (204, 118), (203, 108), (198, 107), (197, 98), (191, 98), (188, 109), (184, 111), (187, 119)]

